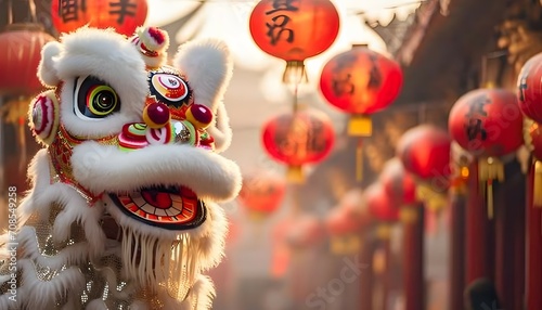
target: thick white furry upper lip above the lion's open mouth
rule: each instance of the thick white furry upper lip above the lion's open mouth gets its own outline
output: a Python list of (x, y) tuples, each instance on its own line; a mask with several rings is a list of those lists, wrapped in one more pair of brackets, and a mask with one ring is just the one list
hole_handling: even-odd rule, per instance
[(225, 201), (241, 188), (237, 165), (188, 145), (153, 145), (122, 152), (88, 141), (74, 148), (72, 165), (76, 179), (94, 193), (178, 184), (190, 188), (198, 197)]

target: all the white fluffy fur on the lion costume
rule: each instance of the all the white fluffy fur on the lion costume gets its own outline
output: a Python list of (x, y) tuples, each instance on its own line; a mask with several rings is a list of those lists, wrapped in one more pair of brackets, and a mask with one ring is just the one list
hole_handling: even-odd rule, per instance
[[(152, 43), (147, 46), (153, 48)], [(70, 134), (95, 139), (118, 134), (125, 124), (141, 121), (149, 92), (145, 61), (122, 36), (111, 30), (82, 28), (64, 35), (61, 42), (48, 43), (41, 55), (38, 68), (40, 80), (50, 87), (63, 82), (61, 122)], [(224, 151), (232, 134), (222, 103), (232, 70), (225, 44), (218, 40), (186, 43), (176, 55), (175, 65), (186, 75), (195, 102), (215, 113), (209, 132), (215, 139), (217, 152)], [(85, 120), (74, 114), (74, 105), (77, 104), (74, 102), (75, 79), (88, 75), (102, 79), (116, 90), (121, 101), (120, 113), (102, 120)], [(18, 302), (8, 300), (8, 295), (0, 296), (0, 309), (12, 306), (13, 309), (52, 309), (61, 297), (67, 298), (62, 309), (78, 308), (86, 281), (83, 273), (87, 272), (78, 266), (86, 261), (95, 268), (109, 287), (128, 281), (121, 290), (109, 289), (108, 298), (112, 300), (131, 300), (150, 284), (165, 303), (165, 309), (209, 309), (215, 289), (211, 281), (201, 272), (215, 267), (223, 256), (228, 224), (224, 211), (216, 202), (231, 199), (240, 191), (238, 166), (214, 152), (188, 145), (151, 145), (125, 152), (116, 145), (87, 141), (73, 151), (74, 178), (86, 190), (106, 194), (137, 191), (154, 184), (184, 185), (205, 201), (206, 221), (196, 229), (171, 231), (145, 225), (127, 217), (107, 195), (89, 204), (78, 189), (65, 183), (51, 183), (50, 177), (55, 171), (50, 171), (49, 154), (47, 150), (41, 150), (28, 169), (31, 190), (18, 208), (21, 257), (17, 262), (23, 274), (23, 285), (17, 290)], [(33, 218), (33, 221), (48, 223), (51, 212), (59, 211), (53, 207), (60, 212), (47, 227), (47, 233), (63, 247), (49, 257), (41, 254), (36, 229), (29, 227), (28, 221)], [(120, 227), (121, 242), (106, 238), (100, 224), (104, 212), (111, 214)], [(74, 223), (81, 227), (85, 241), (66, 245), (64, 243), (70, 237)], [(183, 242), (177, 243), (179, 240)], [(5, 243), (5, 236), (0, 237), (0, 245)], [(139, 255), (134, 248), (144, 250), (141, 263), (134, 260)], [(113, 267), (99, 263), (100, 258), (108, 255), (120, 257), (125, 269), (122, 274), (127, 279), (118, 279)], [(162, 258), (166, 259), (162, 261)], [(156, 261), (163, 262), (163, 270), (154, 268)], [(37, 276), (36, 264), (49, 267), (57, 273), (50, 281), (41, 281)], [(184, 275), (179, 272), (184, 267), (188, 277), (181, 277)], [(7, 280), (9, 276), (5, 274), (0, 276), (0, 283)], [(186, 282), (193, 286), (183, 300), (185, 290), (164, 288), (168, 281)], [(107, 309), (106, 303), (100, 299), (91, 300), (87, 309)], [(150, 306), (145, 300), (134, 300), (130, 309), (143, 310), (150, 309)]]

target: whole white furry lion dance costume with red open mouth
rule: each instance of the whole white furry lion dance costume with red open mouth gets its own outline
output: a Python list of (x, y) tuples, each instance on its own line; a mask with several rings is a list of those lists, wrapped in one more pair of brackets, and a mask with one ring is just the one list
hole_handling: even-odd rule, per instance
[(241, 185), (219, 154), (232, 62), (201, 40), (167, 65), (168, 44), (154, 27), (129, 39), (81, 28), (43, 48), (38, 77), (52, 89), (33, 101), (30, 127), (47, 147), (18, 210), (16, 301), (4, 263), (0, 309), (210, 307), (203, 273), (228, 227), (217, 203)]

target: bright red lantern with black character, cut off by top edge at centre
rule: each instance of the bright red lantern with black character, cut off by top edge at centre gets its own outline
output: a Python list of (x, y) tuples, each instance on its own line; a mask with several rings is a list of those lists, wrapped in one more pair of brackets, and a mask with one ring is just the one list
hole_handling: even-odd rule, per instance
[(339, 15), (330, 0), (261, 0), (249, 29), (266, 53), (286, 61), (283, 81), (307, 81), (304, 61), (327, 50), (339, 30)]

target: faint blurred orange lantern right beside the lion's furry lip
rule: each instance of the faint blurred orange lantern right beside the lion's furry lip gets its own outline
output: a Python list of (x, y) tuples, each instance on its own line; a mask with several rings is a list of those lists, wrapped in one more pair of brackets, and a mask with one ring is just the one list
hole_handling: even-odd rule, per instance
[(275, 212), (284, 201), (286, 181), (270, 171), (258, 171), (245, 176), (238, 201), (249, 211), (249, 216), (259, 220)]

